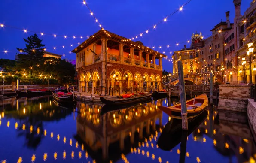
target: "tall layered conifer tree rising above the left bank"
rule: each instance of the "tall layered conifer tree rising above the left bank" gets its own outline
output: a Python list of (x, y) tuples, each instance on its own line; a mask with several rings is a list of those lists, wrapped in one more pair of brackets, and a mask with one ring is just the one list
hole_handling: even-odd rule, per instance
[(33, 68), (43, 61), (45, 45), (42, 44), (42, 39), (39, 39), (37, 34), (29, 36), (27, 39), (23, 38), (26, 42), (26, 48), (17, 48), (20, 53), (18, 54), (17, 68), (27, 69), (30, 68), (28, 77), (31, 84), (33, 78)]

